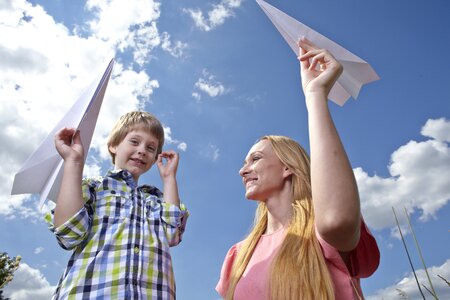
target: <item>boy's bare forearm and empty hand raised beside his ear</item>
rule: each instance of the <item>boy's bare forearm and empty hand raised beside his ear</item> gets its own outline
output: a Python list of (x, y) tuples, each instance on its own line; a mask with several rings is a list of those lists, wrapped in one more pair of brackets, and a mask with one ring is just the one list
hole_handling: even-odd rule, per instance
[[(166, 164), (163, 163), (166, 159)], [(163, 182), (164, 202), (180, 207), (180, 197), (178, 195), (177, 169), (179, 155), (173, 150), (163, 151), (158, 155), (157, 166)]]

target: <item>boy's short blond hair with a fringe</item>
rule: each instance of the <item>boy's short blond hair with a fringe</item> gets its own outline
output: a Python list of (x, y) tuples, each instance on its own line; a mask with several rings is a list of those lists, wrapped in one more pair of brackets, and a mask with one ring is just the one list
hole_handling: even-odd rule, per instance
[(158, 139), (156, 155), (162, 152), (162, 147), (164, 145), (164, 129), (161, 122), (148, 112), (131, 111), (120, 117), (109, 134), (107, 146), (113, 164), (115, 163), (115, 154), (111, 152), (110, 147), (119, 145), (129, 132), (140, 126)]

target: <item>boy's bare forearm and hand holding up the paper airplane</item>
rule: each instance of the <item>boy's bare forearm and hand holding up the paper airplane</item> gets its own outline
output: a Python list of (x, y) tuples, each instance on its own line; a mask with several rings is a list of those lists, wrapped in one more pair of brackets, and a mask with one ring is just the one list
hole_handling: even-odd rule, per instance
[(81, 191), (84, 150), (80, 132), (74, 128), (61, 129), (55, 135), (55, 147), (64, 159), (63, 178), (54, 210), (54, 225), (58, 227), (84, 205)]

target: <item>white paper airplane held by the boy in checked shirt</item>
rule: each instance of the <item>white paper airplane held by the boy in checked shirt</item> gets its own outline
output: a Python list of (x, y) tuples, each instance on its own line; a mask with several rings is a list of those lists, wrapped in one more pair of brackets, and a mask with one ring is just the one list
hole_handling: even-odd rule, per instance
[(14, 177), (11, 195), (39, 193), (40, 207), (46, 199), (56, 201), (61, 186), (64, 161), (56, 151), (55, 134), (63, 127), (80, 130), (84, 160), (86, 161), (113, 65), (114, 59), (110, 61), (106, 71), (84, 91), (37, 150), (26, 160)]

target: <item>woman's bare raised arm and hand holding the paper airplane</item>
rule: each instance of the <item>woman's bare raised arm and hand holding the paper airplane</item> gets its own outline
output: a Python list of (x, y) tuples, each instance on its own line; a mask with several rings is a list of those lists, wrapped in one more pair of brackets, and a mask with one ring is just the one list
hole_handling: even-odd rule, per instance
[(299, 43), (302, 87), (308, 110), (311, 186), (316, 227), (339, 251), (354, 249), (360, 235), (356, 180), (328, 109), (328, 94), (342, 65), (324, 49)]

